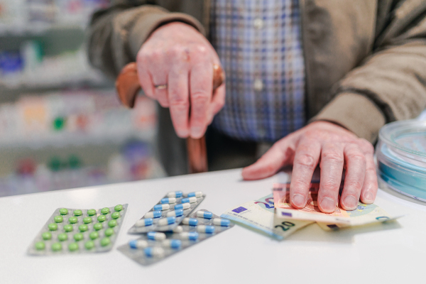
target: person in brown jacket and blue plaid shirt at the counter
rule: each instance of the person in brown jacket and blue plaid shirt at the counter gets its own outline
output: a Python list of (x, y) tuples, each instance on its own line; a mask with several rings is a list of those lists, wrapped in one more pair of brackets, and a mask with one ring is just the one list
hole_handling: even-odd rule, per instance
[[(89, 58), (110, 75), (136, 60), (161, 106), (170, 175), (185, 173), (182, 138), (211, 124), (212, 169), (249, 165), (273, 143), (245, 180), (293, 165), (290, 200), (303, 208), (320, 165), (320, 210), (351, 210), (376, 197), (378, 130), (426, 107), (425, 15), (415, 0), (112, 0), (92, 18)], [(212, 92), (214, 64), (226, 84)]]

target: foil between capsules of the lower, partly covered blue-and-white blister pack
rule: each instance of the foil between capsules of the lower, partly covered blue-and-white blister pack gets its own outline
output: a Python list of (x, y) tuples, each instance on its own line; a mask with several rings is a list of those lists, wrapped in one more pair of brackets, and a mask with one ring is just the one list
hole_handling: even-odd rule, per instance
[[(180, 224), (180, 226), (178, 228), (175, 228), (175, 231), (167, 231), (167, 232), (163, 232), (166, 236), (165, 240), (180, 240), (181, 241), (181, 246), (179, 249), (173, 249), (170, 248), (168, 246), (165, 246), (165, 241), (160, 240), (160, 241), (154, 241), (152, 239), (148, 239), (148, 234), (143, 234), (143, 236), (141, 236), (141, 238), (137, 239), (137, 240), (132, 240), (132, 241), (143, 241), (145, 244), (148, 244), (148, 248), (159, 248), (163, 250), (163, 256), (161, 257), (148, 257), (146, 256), (146, 252), (145, 249), (146, 248), (139, 248), (139, 249), (132, 249), (131, 246), (129, 246), (129, 244), (132, 242), (130, 241), (129, 244), (124, 244), (122, 246), (119, 246), (118, 250), (121, 251), (121, 253), (124, 253), (125, 256), (131, 258), (133, 261), (136, 261), (137, 263), (143, 265), (143, 266), (149, 266), (153, 263), (157, 263), (158, 261), (162, 261), (165, 258), (168, 258), (169, 256), (172, 256), (175, 253), (178, 253), (184, 249), (187, 249), (190, 246), (194, 246), (195, 244), (200, 243), (201, 241), (204, 241), (205, 239), (209, 239), (212, 236), (216, 236), (217, 234), (221, 233), (222, 231), (226, 231), (228, 229), (231, 229), (234, 224), (232, 222), (229, 222), (228, 219), (224, 219), (224, 218), (220, 218), (219, 216), (212, 214), (212, 219), (204, 219), (201, 217), (197, 217), (197, 212), (209, 212), (205, 209), (200, 209), (197, 210), (196, 212), (193, 212), (190, 214), (190, 218), (192, 219), (197, 219), (197, 226), (190, 226), (187, 224)], [(227, 222), (229, 222), (229, 226), (220, 226), (220, 225), (214, 225), (213, 220), (214, 219), (224, 219)], [(202, 233), (199, 232), (197, 230), (197, 228), (199, 228), (200, 226), (214, 226), (214, 233), (212, 234), (207, 234), (207, 233)], [(185, 232), (197, 232), (198, 234), (198, 238), (196, 241), (192, 241), (189, 239), (182, 239), (181, 237), (181, 232), (176, 232), (176, 231), (181, 231), (182, 233)]]

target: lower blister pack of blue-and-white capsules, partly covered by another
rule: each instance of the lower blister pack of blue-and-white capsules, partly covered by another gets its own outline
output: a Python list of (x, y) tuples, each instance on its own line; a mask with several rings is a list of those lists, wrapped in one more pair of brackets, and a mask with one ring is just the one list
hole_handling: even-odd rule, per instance
[(201, 209), (190, 214), (190, 217), (185, 217), (182, 224), (173, 231), (150, 231), (139, 239), (129, 241), (129, 244), (119, 246), (118, 250), (133, 261), (148, 266), (226, 231), (232, 226), (234, 224), (228, 219)]

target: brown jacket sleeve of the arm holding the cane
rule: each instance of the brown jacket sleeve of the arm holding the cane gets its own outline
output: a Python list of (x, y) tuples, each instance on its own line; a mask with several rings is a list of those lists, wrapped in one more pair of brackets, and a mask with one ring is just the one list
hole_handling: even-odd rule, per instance
[(111, 77), (116, 77), (127, 63), (135, 61), (143, 42), (155, 28), (165, 23), (180, 21), (204, 33), (202, 24), (185, 13), (171, 13), (142, 0), (112, 2), (109, 9), (92, 16), (87, 45), (89, 61)]

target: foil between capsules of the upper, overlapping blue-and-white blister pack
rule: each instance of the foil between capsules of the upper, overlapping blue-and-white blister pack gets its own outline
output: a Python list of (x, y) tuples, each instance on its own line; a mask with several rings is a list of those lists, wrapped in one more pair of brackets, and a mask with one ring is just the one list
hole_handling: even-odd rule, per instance
[[(161, 200), (163, 200), (164, 198), (169, 198), (168, 195), (171, 192), (169, 192), (168, 194), (166, 194)], [(193, 193), (193, 192), (191, 192)], [(189, 193), (188, 193), (189, 194)], [(187, 198), (187, 195), (182, 194), (182, 197), (175, 197), (176, 198), (176, 202), (173, 204), (169, 204), (170, 205), (170, 209), (167, 210), (162, 210), (161, 211), (161, 216), (158, 218), (152, 218), (153, 219), (153, 224), (149, 225), (149, 226), (136, 226), (137, 222), (135, 224), (133, 224), (133, 226), (131, 226), (131, 228), (129, 229), (128, 233), (129, 234), (141, 234), (141, 233), (147, 233), (148, 231), (172, 231), (173, 229), (175, 229), (175, 227), (177, 227), (180, 222), (182, 222), (182, 219), (184, 219), (185, 217), (187, 217), (187, 215), (189, 215), (206, 197), (206, 195), (202, 195), (200, 197), (196, 197), (197, 198), (197, 202), (193, 202), (190, 203), (190, 208), (188, 209), (183, 209), (183, 215), (180, 217), (176, 217), (176, 220), (173, 224), (168, 224), (165, 226), (160, 226), (158, 225), (158, 222), (160, 221), (160, 219), (164, 219), (167, 217), (168, 212), (173, 212), (175, 209), (175, 205), (177, 204), (182, 204), (182, 199)], [(161, 204), (161, 200), (155, 204)], [(154, 206), (155, 206), (154, 205)], [(153, 212), (154, 211), (154, 206), (151, 208), (151, 210), (149, 210), (148, 212)], [(147, 213), (148, 213), (147, 212)], [(141, 219), (150, 219), (150, 218), (145, 218), (146, 215), (144, 215)]]

